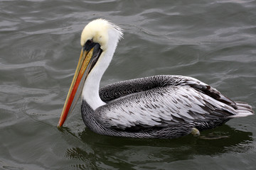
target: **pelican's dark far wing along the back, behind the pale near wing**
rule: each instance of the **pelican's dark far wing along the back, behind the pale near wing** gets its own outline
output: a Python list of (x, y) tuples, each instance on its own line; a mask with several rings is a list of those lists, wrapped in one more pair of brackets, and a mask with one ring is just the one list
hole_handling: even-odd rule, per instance
[(236, 108), (235, 102), (231, 101), (226, 96), (223, 96), (217, 89), (214, 89), (208, 84), (205, 84), (202, 81), (192, 77), (175, 75), (158, 75), (108, 84), (100, 89), (100, 98), (102, 101), (108, 103), (116, 100), (117, 98), (122, 98), (141, 91), (147, 91), (149, 89), (165, 86), (190, 86), (197, 91), (201, 91), (202, 93), (207, 94), (218, 101)]

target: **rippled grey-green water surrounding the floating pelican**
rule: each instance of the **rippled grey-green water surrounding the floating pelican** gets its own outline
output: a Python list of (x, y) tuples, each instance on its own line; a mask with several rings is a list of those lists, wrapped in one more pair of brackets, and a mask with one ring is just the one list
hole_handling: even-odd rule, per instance
[(202, 132), (212, 140), (142, 140), (90, 132), (78, 103), (56, 127), (80, 33), (95, 18), (124, 29), (102, 86), (182, 74), (255, 109), (255, 8), (237, 0), (0, 1), (0, 169), (255, 169), (255, 115)]

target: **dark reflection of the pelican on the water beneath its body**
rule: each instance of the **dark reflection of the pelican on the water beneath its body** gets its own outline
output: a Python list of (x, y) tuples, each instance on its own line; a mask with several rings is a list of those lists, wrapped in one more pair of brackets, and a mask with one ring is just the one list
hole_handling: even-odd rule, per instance
[[(65, 156), (85, 164), (75, 164), (79, 169), (132, 169), (147, 164), (170, 163), (193, 159), (196, 156), (215, 156), (230, 152), (246, 152), (252, 147), (252, 132), (235, 130), (223, 125), (214, 130), (206, 130), (202, 136), (215, 135), (211, 140), (188, 135), (174, 140), (132, 139), (97, 135), (86, 129), (78, 135), (85, 147), (67, 149)], [(223, 138), (221, 138), (223, 137)], [(152, 168), (152, 166), (150, 166)]]

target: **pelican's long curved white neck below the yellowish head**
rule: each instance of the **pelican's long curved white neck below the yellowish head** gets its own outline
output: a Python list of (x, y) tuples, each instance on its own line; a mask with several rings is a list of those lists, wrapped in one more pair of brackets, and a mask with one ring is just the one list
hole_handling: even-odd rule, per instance
[(120, 37), (119, 33), (114, 29), (110, 29), (108, 34), (110, 40), (107, 43), (107, 50), (103, 51), (100, 55), (99, 60), (90, 71), (90, 74), (88, 74), (82, 89), (82, 99), (85, 100), (94, 111), (96, 108), (106, 104), (101, 100), (99, 95), (100, 80), (107, 67), (110, 65)]

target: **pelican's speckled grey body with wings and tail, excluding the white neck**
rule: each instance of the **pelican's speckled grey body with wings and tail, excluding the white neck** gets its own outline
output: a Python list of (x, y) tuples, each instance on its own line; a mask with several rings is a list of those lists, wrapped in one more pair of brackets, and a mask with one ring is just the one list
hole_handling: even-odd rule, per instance
[(82, 118), (102, 135), (174, 138), (191, 128), (215, 128), (238, 114), (252, 114), (246, 103), (235, 103), (197, 79), (154, 76), (120, 81), (100, 89), (106, 105), (95, 111), (82, 101)]

